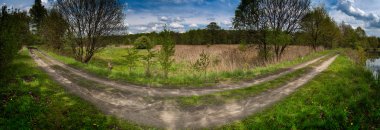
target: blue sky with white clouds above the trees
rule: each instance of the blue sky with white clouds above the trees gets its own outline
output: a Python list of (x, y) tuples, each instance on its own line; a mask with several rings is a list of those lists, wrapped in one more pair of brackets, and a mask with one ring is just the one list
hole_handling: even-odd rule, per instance
[[(49, 6), (48, 0), (42, 0)], [(49, 0), (51, 1), (51, 0)], [(368, 35), (380, 36), (380, 0), (312, 0), (313, 6), (324, 5), (338, 22), (364, 28)], [(8, 5), (28, 10), (34, 0), (0, 0)], [(123, 0), (129, 33), (160, 31), (163, 25), (184, 32), (204, 28), (217, 22), (231, 28), (234, 10), (240, 0)]]

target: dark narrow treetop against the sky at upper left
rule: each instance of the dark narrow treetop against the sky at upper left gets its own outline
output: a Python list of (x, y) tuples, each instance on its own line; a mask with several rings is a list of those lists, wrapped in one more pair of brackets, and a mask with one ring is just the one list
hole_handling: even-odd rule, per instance
[(32, 17), (32, 21), (34, 24), (34, 27), (39, 30), (41, 27), (41, 23), (43, 19), (47, 16), (47, 10), (42, 5), (41, 0), (35, 0), (34, 5), (29, 10), (30, 16)]

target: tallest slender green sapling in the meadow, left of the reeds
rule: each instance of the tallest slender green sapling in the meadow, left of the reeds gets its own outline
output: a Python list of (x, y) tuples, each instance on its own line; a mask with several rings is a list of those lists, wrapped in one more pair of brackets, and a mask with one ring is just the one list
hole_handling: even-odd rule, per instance
[(164, 38), (160, 50), (160, 64), (164, 72), (164, 77), (168, 78), (169, 70), (174, 62), (172, 56), (175, 53), (175, 42), (170, 37), (170, 31), (164, 30)]

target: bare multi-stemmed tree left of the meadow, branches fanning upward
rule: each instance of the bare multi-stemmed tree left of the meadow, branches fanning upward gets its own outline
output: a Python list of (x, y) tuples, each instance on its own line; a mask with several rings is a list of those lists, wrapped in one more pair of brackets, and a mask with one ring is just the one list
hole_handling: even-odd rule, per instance
[(102, 37), (123, 29), (123, 4), (118, 0), (57, 0), (56, 7), (74, 36), (75, 59), (83, 63), (105, 46)]

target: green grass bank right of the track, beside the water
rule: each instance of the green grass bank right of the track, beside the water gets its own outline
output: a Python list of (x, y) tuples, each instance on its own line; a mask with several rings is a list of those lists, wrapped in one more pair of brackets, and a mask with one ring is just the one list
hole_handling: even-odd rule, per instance
[(220, 129), (378, 129), (380, 86), (346, 56), (288, 98)]

